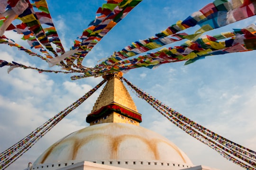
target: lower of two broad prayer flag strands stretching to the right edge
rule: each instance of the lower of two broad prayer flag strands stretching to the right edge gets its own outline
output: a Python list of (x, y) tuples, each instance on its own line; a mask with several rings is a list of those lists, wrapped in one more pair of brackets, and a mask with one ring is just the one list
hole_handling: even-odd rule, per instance
[[(181, 37), (190, 39), (193, 36), (184, 35)], [(120, 61), (106, 60), (96, 65), (90, 72), (85, 72), (80, 76), (71, 76), (71, 79), (103, 76), (105, 74), (128, 71), (129, 69), (140, 67), (155, 68), (161, 64), (178, 61), (186, 61), (186, 65), (198, 59), (203, 59), (206, 56), (245, 52), (254, 49), (256, 49), (256, 26), (252, 24), (243, 29), (234, 29), (233, 32), (221, 33), (214, 36), (202, 35), (197, 37), (197, 39), (187, 40), (180, 46), (162, 48), (159, 51), (147, 53), (137, 58)]]

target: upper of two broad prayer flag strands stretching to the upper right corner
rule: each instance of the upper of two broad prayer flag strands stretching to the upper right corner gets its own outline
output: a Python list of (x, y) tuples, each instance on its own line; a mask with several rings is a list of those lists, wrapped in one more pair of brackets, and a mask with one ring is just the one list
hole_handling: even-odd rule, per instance
[[(125, 47), (121, 51), (114, 52), (105, 62), (118, 61), (135, 56), (142, 52), (150, 51), (152, 49), (182, 40), (186, 33), (176, 34), (179, 31), (185, 30), (189, 27), (199, 25), (201, 28), (192, 34), (190, 38), (196, 38), (206, 31), (213, 30), (222, 26), (226, 26), (233, 22), (252, 17), (255, 15), (256, 4), (253, 1), (247, 0), (243, 3), (240, 0), (215, 0), (194, 12), (185, 20), (177, 21), (176, 24), (169, 26), (165, 31), (155, 34), (145, 40), (132, 42), (130, 46)], [(171, 37), (167, 37), (167, 36)]]

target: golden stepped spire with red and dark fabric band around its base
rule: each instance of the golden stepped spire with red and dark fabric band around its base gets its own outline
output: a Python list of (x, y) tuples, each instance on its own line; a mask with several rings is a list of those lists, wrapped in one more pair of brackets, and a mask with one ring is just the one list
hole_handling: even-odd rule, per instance
[(86, 121), (90, 125), (107, 122), (139, 125), (141, 122), (141, 114), (137, 112), (134, 101), (120, 80), (121, 77), (121, 72), (103, 77), (108, 82), (101, 91), (91, 113), (87, 115)]

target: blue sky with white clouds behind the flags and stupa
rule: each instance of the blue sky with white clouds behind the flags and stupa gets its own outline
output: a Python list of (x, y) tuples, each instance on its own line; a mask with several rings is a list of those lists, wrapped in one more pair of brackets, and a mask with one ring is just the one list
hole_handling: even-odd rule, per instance
[[(96, 10), (105, 3), (104, 0), (47, 2), (66, 51), (73, 44), (73, 40), (81, 35), (82, 30), (95, 18)], [(83, 64), (93, 67), (99, 59), (110, 56), (113, 51), (119, 51), (131, 42), (154, 36), (210, 2), (144, 0), (93, 48)], [(214, 35), (232, 31), (232, 28), (243, 28), (255, 23), (255, 19), (250, 17), (207, 34)], [(193, 33), (198, 28), (188, 29), (188, 32)], [(22, 42), (12, 32), (6, 32), (5, 35), (27, 46), (26, 42)], [(202, 126), (256, 150), (255, 56), (255, 51), (210, 56), (186, 66), (184, 62), (177, 62), (161, 65), (154, 70), (137, 68), (124, 74), (124, 77)], [(45, 61), (28, 56), (5, 44), (0, 44), (0, 59), (49, 69)], [(101, 77), (89, 77), (72, 81), (69, 75), (39, 74), (37, 71), (21, 68), (16, 68), (8, 74), (7, 67), (0, 68), (0, 75), (1, 152), (27, 136), (102, 80)], [(73, 110), (30, 151), (9, 166), (8, 170), (25, 169), (28, 162), (35, 161), (40, 153), (55, 141), (88, 126), (85, 117), (91, 112), (100, 92), (101, 90), (97, 91)], [(195, 165), (220, 170), (242, 170), (210, 147), (188, 136), (145, 101), (130, 93), (143, 116), (141, 126), (170, 139)]]

